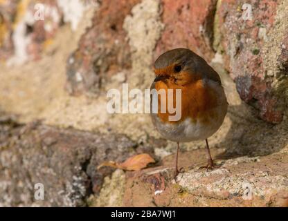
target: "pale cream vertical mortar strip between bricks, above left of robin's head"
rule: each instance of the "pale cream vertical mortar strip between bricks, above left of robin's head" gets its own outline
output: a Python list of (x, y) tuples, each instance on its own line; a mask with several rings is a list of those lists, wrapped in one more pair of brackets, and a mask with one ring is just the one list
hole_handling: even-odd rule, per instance
[(132, 51), (132, 70), (127, 82), (130, 87), (150, 88), (153, 53), (161, 37), (161, 4), (156, 0), (144, 0), (138, 3), (127, 15), (123, 28), (127, 32)]

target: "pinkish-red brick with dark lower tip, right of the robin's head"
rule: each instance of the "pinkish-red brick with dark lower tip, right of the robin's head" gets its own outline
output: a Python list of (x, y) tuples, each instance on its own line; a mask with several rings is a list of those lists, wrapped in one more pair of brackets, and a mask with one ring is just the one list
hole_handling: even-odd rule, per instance
[[(251, 3), (252, 20), (242, 19), (242, 5)], [(267, 122), (282, 121), (278, 97), (273, 94), (274, 79), (267, 77), (263, 65), (263, 39), (258, 37), (260, 27), (273, 27), (278, 1), (230, 1), (223, 0), (217, 16), (224, 64), (235, 80), (240, 97), (259, 110), (259, 116)], [(280, 58), (281, 59), (281, 58)], [(285, 59), (285, 56), (282, 57)]]

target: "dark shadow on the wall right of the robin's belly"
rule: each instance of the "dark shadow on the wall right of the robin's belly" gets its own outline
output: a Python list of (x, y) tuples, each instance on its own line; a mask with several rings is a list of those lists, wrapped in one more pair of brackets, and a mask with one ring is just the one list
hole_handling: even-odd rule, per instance
[(231, 128), (219, 144), (226, 152), (217, 158), (233, 158), (248, 155), (269, 155), (288, 145), (288, 124), (278, 125), (250, 119), (240, 113), (243, 106), (229, 106), (227, 116), (231, 119)]

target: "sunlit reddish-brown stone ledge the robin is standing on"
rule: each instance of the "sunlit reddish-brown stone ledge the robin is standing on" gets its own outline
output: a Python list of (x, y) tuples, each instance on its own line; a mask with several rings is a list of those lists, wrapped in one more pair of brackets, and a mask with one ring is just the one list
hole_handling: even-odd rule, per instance
[(219, 159), (219, 168), (208, 172), (198, 169), (205, 155), (204, 150), (181, 155), (185, 172), (177, 182), (172, 157), (159, 168), (129, 173), (123, 206), (288, 206), (286, 153)]

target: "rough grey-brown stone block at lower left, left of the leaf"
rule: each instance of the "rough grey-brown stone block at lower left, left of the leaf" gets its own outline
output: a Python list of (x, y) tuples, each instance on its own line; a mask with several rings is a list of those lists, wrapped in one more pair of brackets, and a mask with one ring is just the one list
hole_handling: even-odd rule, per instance
[[(21, 126), (2, 117), (0, 205), (84, 206), (113, 171), (97, 171), (98, 164), (122, 162), (136, 153), (135, 148), (125, 135), (103, 136), (39, 123)], [(36, 183), (44, 184), (44, 200), (34, 199)]]

